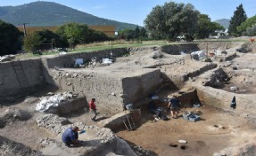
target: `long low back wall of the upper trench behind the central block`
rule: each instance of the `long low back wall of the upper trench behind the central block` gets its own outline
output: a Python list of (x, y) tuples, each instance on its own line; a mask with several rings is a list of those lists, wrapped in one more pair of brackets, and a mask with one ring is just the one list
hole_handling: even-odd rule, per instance
[[(112, 55), (111, 55), (112, 53)], [(83, 58), (85, 62), (91, 60), (91, 58), (111, 58), (120, 57), (128, 53), (126, 48), (119, 48), (106, 51), (90, 51), (90, 52), (80, 52), (80, 53), (68, 53), (65, 55), (59, 55), (54, 57), (45, 58), (48, 68), (54, 68), (54, 66), (59, 67), (73, 67), (76, 58)]]

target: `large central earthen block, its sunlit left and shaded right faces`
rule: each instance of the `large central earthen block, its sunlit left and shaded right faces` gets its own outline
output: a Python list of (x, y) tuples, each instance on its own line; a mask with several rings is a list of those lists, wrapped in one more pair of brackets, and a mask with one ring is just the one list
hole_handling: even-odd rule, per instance
[(160, 84), (159, 69), (145, 70), (142, 74), (127, 74), (122, 76), (88, 71), (60, 72), (49, 70), (53, 76), (54, 85), (60, 90), (73, 91), (86, 101), (96, 98), (96, 104), (101, 112), (119, 113), (123, 104), (133, 103), (145, 98)]

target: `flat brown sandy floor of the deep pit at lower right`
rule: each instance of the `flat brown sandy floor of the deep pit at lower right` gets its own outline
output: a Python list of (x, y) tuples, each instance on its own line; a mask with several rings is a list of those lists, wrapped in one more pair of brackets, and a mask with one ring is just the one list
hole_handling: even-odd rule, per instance
[[(235, 135), (247, 133), (255, 128), (246, 119), (224, 112), (212, 106), (186, 108), (190, 112), (201, 112), (201, 121), (186, 121), (180, 116), (169, 121), (153, 121), (153, 115), (142, 109), (145, 124), (134, 131), (120, 131), (117, 136), (128, 141), (132, 147), (141, 146), (151, 151), (151, 155), (183, 155), (209, 156), (221, 151), (233, 142), (241, 141), (243, 136)], [(169, 114), (169, 110), (166, 110)], [(180, 114), (185, 113), (185, 111)], [(254, 130), (255, 132), (255, 130)], [(186, 140), (186, 144), (178, 143)], [(136, 148), (134, 148), (136, 150)]]

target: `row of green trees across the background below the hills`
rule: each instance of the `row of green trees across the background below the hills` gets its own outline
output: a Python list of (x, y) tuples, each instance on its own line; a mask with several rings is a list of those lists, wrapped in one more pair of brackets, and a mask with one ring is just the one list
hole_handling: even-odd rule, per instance
[[(54, 47), (75, 47), (77, 44), (125, 40), (168, 39), (176, 41), (183, 36), (188, 42), (214, 35), (216, 30), (224, 30), (219, 23), (194, 8), (193, 4), (168, 2), (156, 5), (144, 20), (145, 27), (120, 30), (116, 38), (87, 27), (86, 24), (68, 23), (58, 27), (56, 32), (42, 30), (22, 36), (17, 27), (0, 20), (0, 55), (12, 54), (23, 50), (34, 52), (43, 44)], [(256, 16), (247, 18), (243, 4), (240, 4), (228, 27), (229, 35), (256, 35)]]

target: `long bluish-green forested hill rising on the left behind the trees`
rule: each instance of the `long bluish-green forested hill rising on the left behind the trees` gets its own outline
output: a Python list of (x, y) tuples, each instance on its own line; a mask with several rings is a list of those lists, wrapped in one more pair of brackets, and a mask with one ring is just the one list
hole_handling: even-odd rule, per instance
[(62, 4), (43, 1), (18, 6), (1, 6), (0, 20), (15, 26), (29, 23), (29, 27), (60, 26), (67, 22), (78, 22), (87, 25), (115, 26), (116, 30), (136, 28), (134, 24), (99, 18)]

